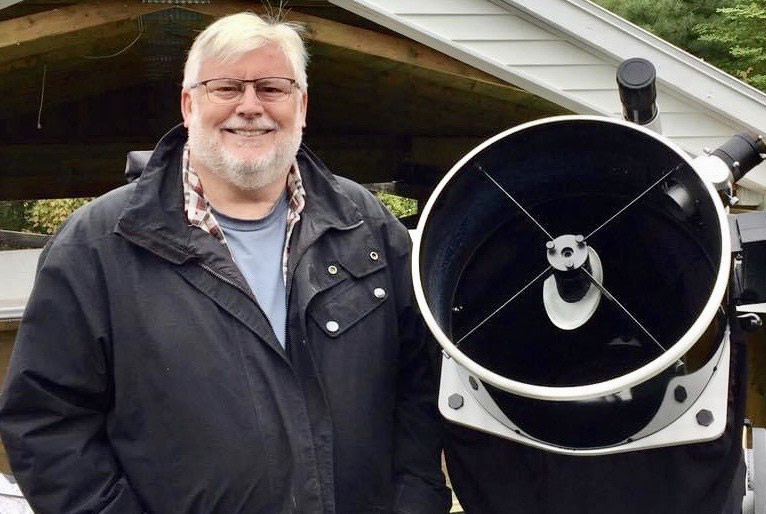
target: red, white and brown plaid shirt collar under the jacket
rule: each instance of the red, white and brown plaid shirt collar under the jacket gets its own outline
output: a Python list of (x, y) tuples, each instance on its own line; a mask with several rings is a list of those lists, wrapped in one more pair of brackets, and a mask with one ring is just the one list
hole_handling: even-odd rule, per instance
[[(202, 192), (202, 182), (199, 175), (189, 166), (189, 144), (184, 146), (184, 154), (181, 162), (181, 171), (184, 185), (184, 211), (189, 225), (199, 227), (211, 236), (218, 239), (221, 244), (228, 248), (226, 236), (223, 234), (221, 226), (213, 216), (213, 210), (205, 199)], [(301, 212), (306, 205), (306, 190), (303, 189), (301, 173), (298, 170), (298, 163), (293, 162), (290, 172), (287, 174), (287, 231), (285, 234), (285, 246), (282, 251), (282, 280), (287, 283), (287, 257), (290, 255), (290, 235), (293, 228), (301, 219)]]

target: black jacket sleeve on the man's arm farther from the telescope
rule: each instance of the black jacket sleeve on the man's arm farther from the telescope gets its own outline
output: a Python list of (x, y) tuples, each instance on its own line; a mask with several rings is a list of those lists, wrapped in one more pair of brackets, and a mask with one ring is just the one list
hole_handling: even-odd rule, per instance
[(35, 512), (140, 514), (106, 437), (107, 300), (91, 250), (43, 253), (0, 397), (0, 432)]

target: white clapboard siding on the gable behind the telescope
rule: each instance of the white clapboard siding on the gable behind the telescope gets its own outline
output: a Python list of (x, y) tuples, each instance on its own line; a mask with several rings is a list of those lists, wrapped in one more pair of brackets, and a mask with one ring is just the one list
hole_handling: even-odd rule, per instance
[(585, 0), (330, 1), (581, 114), (619, 116), (617, 66), (648, 58), (665, 135), (692, 154), (766, 133), (766, 95)]

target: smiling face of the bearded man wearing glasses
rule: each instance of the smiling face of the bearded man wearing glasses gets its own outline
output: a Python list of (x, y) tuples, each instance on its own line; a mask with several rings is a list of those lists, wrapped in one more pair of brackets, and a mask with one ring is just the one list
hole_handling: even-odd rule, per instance
[[(295, 78), (284, 52), (273, 44), (224, 64), (204, 61), (198, 81), (215, 78)], [(306, 125), (305, 91), (294, 89), (281, 102), (262, 102), (248, 84), (233, 103), (211, 102), (203, 86), (184, 90), (181, 110), (197, 167), (246, 190), (283, 180), (295, 159)]]

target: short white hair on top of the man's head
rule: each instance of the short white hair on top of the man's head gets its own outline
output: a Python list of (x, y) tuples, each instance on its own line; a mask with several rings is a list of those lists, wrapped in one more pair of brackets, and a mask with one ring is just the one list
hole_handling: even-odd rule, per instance
[(308, 52), (301, 38), (302, 33), (300, 25), (267, 21), (251, 12), (220, 18), (194, 39), (184, 66), (183, 87), (188, 88), (197, 82), (204, 61), (234, 62), (246, 53), (272, 43), (285, 53), (293, 68), (295, 81), (306, 91)]

